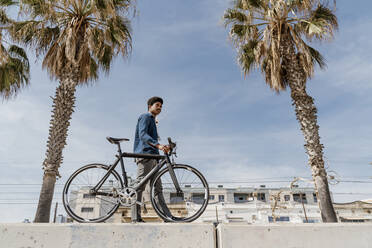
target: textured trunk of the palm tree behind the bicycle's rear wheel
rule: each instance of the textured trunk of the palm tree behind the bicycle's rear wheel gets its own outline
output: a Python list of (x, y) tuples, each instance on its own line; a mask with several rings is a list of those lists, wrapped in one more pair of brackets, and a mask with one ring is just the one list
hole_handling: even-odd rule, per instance
[(59, 176), (58, 168), (63, 160), (62, 150), (66, 145), (67, 131), (74, 111), (77, 81), (73, 78), (73, 76), (67, 76), (62, 79), (53, 98), (46, 158), (43, 162), (43, 184), (34, 222), (45, 223), (50, 219), (56, 177)]

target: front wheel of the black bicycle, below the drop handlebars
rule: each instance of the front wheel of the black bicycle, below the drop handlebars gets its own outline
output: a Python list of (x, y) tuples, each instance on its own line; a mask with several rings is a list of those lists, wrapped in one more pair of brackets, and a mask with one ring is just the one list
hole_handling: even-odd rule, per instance
[(152, 206), (166, 222), (194, 221), (208, 205), (208, 183), (198, 170), (189, 165), (175, 164), (172, 168), (181, 192), (177, 192), (169, 168), (165, 168), (152, 181)]

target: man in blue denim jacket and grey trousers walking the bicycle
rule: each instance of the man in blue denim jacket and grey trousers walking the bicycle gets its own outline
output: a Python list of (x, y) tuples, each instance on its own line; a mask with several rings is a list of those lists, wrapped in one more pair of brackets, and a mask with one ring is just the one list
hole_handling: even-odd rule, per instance
[[(147, 109), (148, 112), (142, 114), (138, 118), (137, 126), (136, 126), (136, 133), (134, 137), (134, 153), (145, 153), (145, 154), (159, 154), (159, 150), (164, 152), (169, 152), (169, 147), (166, 145), (161, 145), (158, 142), (159, 136), (158, 131), (156, 128), (156, 121), (155, 118), (158, 114), (160, 114), (163, 107), (163, 99), (160, 97), (154, 96), (151, 97), (147, 101)], [(153, 144), (155, 147), (149, 145), (149, 143)], [(135, 160), (137, 163), (137, 180), (140, 181), (144, 178), (152, 168), (154, 168), (157, 164), (156, 159), (143, 159), (139, 158)], [(149, 185), (149, 183), (147, 183)], [(142, 192), (146, 186), (143, 186), (141, 189), (138, 190), (137, 194), (137, 201), (142, 202)], [(156, 185), (161, 192), (161, 185)], [(164, 213), (169, 213), (169, 209), (166, 207), (164, 202), (163, 195), (160, 194), (157, 196), (161, 205), (163, 206)], [(144, 222), (141, 218), (141, 207), (138, 204), (135, 204), (132, 207), (132, 221), (133, 222)]]

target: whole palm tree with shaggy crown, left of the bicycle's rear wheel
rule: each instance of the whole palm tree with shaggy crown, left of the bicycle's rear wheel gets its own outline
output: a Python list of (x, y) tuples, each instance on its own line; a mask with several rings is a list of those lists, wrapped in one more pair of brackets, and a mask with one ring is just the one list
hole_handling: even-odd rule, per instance
[(43, 162), (43, 183), (35, 222), (49, 222), (62, 150), (74, 112), (78, 85), (110, 70), (112, 59), (131, 51), (131, 0), (22, 0), (28, 20), (14, 25), (13, 36), (35, 48), (43, 68), (59, 81)]

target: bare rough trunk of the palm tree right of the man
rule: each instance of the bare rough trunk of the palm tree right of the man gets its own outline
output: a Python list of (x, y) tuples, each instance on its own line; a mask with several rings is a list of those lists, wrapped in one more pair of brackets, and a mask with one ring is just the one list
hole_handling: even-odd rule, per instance
[(300, 123), (305, 139), (305, 149), (309, 156), (312, 177), (317, 190), (319, 208), (323, 222), (337, 222), (328, 187), (327, 172), (324, 169), (323, 145), (320, 143), (317, 109), (314, 99), (306, 92), (306, 76), (303, 72), (295, 49), (288, 38), (282, 40), (283, 67), (291, 89), (292, 105)]

